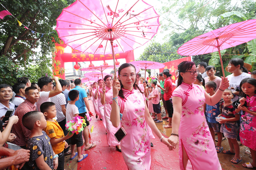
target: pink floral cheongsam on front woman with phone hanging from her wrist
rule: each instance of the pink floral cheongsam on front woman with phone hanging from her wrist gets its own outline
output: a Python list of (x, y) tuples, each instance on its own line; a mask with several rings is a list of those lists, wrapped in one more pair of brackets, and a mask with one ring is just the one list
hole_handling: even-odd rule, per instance
[(127, 133), (120, 142), (124, 161), (129, 170), (150, 169), (150, 136), (144, 115), (145, 95), (134, 89), (122, 90), (125, 99), (118, 96), (118, 103), (123, 114), (121, 126)]

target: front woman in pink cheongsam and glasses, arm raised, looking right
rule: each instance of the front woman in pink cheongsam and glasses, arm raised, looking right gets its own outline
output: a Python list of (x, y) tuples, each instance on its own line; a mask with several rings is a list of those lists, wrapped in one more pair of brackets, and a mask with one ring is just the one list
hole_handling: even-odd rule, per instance
[(194, 62), (184, 61), (178, 65), (178, 70), (178, 87), (172, 97), (174, 112), (169, 150), (175, 149), (179, 140), (180, 169), (221, 169), (203, 107), (205, 103), (211, 106), (218, 103), (229, 81), (226, 78), (224, 82), (222, 77), (219, 89), (210, 96), (194, 84), (199, 73)]

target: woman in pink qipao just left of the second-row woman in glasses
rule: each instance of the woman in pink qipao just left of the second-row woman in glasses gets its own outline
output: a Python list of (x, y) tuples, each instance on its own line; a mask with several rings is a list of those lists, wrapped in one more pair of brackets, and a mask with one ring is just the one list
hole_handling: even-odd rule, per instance
[(102, 123), (103, 123), (103, 126), (106, 130), (106, 121), (105, 121), (105, 117), (104, 117), (104, 105), (101, 104), (101, 98), (100, 98), (100, 93), (103, 93), (102, 92), (102, 88), (104, 86), (104, 82), (102, 79), (99, 79), (98, 80), (98, 84), (99, 84), (99, 88), (96, 89), (96, 92), (95, 92), (95, 95), (94, 95), (94, 99), (98, 99), (98, 110), (99, 110), (99, 113), (101, 115), (101, 120), (102, 120)]

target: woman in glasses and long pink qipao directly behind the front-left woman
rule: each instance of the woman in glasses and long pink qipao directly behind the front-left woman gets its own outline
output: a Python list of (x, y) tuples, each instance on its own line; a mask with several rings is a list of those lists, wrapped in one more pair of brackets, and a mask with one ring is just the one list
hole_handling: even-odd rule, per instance
[(104, 105), (104, 117), (106, 121), (106, 131), (107, 131), (107, 143), (109, 146), (115, 146), (116, 150), (121, 152), (120, 142), (118, 142), (114, 134), (120, 128), (120, 125), (114, 127), (110, 122), (110, 112), (113, 98), (113, 89), (112, 89), (112, 77), (110, 75), (106, 75), (104, 77), (105, 87), (100, 91), (101, 104)]

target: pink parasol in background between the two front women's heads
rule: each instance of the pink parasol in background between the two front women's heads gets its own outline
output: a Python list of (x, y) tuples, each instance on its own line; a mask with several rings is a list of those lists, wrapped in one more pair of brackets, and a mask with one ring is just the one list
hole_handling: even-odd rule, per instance
[(145, 69), (145, 80), (146, 80), (146, 69), (158, 69), (158, 68), (165, 67), (165, 65), (161, 63), (152, 62), (152, 61), (133, 61), (133, 62), (130, 62), (130, 64), (134, 65), (135, 68)]

